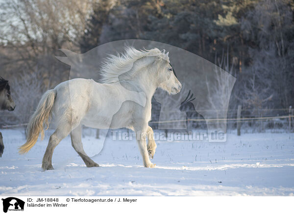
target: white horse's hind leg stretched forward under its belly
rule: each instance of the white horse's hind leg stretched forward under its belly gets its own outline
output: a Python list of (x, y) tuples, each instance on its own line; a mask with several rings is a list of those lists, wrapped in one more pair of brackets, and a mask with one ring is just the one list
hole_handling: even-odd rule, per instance
[(84, 160), (87, 167), (99, 166), (98, 163), (96, 163), (92, 159), (90, 159), (87, 156), (87, 154), (85, 153), (84, 148), (83, 148), (83, 144), (82, 144), (82, 138), (81, 138), (82, 133), (81, 132), (82, 132), (81, 125), (79, 125), (71, 133), (72, 146), (73, 146), (74, 150)]

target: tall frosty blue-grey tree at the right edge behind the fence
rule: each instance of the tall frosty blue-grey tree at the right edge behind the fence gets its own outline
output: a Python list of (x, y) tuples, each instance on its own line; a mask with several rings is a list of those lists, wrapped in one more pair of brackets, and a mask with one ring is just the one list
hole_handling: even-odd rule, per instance
[[(247, 94), (257, 93), (261, 96), (251, 94), (250, 103), (254, 107), (262, 107), (260, 102), (272, 107), (289, 107), (294, 102), (294, 23), (291, 2), (263, 0), (257, 3), (242, 20), (242, 30), (245, 40), (252, 41), (248, 52), (251, 68), (247, 69), (244, 90)], [(245, 102), (248, 103), (248, 100)]]

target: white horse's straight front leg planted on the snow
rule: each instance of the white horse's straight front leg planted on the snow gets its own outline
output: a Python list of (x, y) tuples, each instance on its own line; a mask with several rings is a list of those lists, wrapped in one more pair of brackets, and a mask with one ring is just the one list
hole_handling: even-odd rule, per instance
[(146, 135), (147, 135), (147, 126), (146, 127), (134, 127), (136, 133), (137, 143), (139, 146), (140, 153), (143, 158), (143, 163), (145, 167), (153, 168), (155, 164), (151, 163), (148, 156), (147, 145), (146, 145)]

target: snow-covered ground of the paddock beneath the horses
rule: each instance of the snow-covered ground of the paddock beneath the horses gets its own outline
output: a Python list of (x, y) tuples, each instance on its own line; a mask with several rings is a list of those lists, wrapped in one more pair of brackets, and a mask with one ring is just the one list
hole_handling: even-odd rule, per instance
[[(17, 152), (23, 130), (0, 131), (0, 195), (294, 195), (294, 134), (228, 134), (225, 143), (157, 140), (156, 168), (143, 167), (135, 140), (111, 136), (105, 153), (93, 158), (100, 167), (87, 168), (68, 136), (53, 153), (54, 170), (43, 172), (51, 131), (26, 155)], [(94, 131), (83, 136), (87, 149), (100, 141)]]

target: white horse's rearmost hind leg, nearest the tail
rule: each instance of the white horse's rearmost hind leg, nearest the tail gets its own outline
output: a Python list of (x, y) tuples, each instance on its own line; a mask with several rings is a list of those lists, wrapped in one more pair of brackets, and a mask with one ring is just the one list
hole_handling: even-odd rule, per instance
[(53, 151), (55, 147), (60, 143), (60, 141), (70, 134), (71, 130), (72, 130), (72, 126), (69, 123), (67, 123), (67, 124), (62, 124), (62, 126), (59, 125), (57, 129), (55, 130), (55, 132), (51, 134), (49, 138), (49, 143), (42, 161), (42, 168), (44, 170), (53, 169), (52, 167)]

